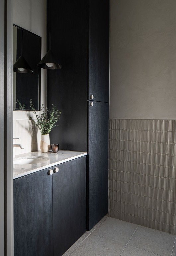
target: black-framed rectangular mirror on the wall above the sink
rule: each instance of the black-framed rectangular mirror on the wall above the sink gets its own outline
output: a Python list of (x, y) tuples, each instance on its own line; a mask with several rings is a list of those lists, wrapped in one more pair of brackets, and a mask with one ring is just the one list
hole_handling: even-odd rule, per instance
[(23, 55), (33, 73), (14, 72), (14, 110), (31, 110), (30, 99), (35, 110), (40, 110), (42, 38), (14, 24), (14, 63)]

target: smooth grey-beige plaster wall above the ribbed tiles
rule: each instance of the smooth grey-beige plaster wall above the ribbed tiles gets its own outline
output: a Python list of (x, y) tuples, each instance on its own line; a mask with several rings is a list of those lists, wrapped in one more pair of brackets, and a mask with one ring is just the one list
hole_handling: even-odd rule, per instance
[(176, 1), (110, 0), (110, 119), (176, 119)]

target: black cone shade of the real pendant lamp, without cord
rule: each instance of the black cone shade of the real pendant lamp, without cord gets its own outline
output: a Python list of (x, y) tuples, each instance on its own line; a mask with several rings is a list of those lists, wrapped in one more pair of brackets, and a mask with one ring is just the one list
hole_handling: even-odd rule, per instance
[(62, 68), (60, 62), (54, 57), (51, 50), (47, 51), (43, 59), (37, 65), (39, 68), (45, 69), (60, 69)]

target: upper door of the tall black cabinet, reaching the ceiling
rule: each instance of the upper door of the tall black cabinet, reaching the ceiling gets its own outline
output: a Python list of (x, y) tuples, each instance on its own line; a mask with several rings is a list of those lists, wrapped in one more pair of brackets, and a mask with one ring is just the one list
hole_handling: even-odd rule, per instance
[(109, 102), (109, 0), (89, 0), (89, 95)]

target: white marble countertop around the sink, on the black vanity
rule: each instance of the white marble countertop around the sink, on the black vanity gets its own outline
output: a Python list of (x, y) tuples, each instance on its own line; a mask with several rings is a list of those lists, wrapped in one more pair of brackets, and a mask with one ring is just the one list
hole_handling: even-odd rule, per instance
[(43, 170), (61, 163), (65, 163), (67, 161), (70, 161), (85, 155), (87, 155), (87, 152), (68, 151), (68, 150), (59, 150), (57, 153), (53, 153), (52, 151), (49, 151), (48, 153), (42, 153), (41, 151), (37, 151), (37, 152), (20, 154), (20, 155), (17, 155), (14, 158), (14, 160), (25, 159), (30, 157), (32, 158), (44, 157), (46, 160), (36, 164), (24, 164), (24, 165), (14, 164), (13, 178), (16, 179), (34, 172), (38, 172), (40, 170)]

